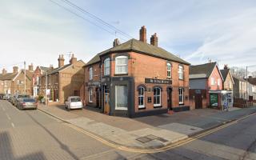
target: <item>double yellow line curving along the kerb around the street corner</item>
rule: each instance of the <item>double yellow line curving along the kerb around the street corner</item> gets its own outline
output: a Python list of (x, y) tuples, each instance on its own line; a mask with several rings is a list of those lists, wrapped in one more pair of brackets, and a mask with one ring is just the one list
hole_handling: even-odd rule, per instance
[[(256, 114), (256, 113), (254, 113), (254, 114)], [(203, 132), (201, 134), (194, 135), (190, 138), (186, 138), (184, 140), (172, 143), (170, 145), (162, 146), (161, 148), (158, 148), (158, 149), (137, 149), (137, 148), (133, 148), (133, 147), (129, 147), (129, 146), (122, 146), (122, 145), (116, 144), (114, 142), (109, 142), (109, 141), (105, 140), (104, 138), (99, 137), (98, 135), (92, 134), (92, 133), (90, 133), (86, 130), (83, 130), (82, 128), (79, 128), (78, 126), (74, 126), (70, 123), (64, 123), (64, 124), (66, 126), (70, 126), (74, 130), (77, 130), (78, 132), (80, 132), (82, 134), (86, 134), (86, 135), (90, 136), (91, 138), (94, 138), (94, 139), (98, 140), (99, 142), (102, 142), (106, 146), (111, 146), (114, 149), (124, 150), (124, 151), (127, 151), (127, 152), (141, 153), (141, 154), (153, 154), (153, 153), (158, 153), (158, 152), (163, 152), (163, 151), (166, 151), (166, 150), (170, 150), (170, 149), (176, 148), (178, 146), (183, 146), (183, 145), (185, 145), (189, 142), (193, 142), (194, 140), (196, 140), (198, 138), (202, 138), (202, 137), (204, 137), (208, 134), (213, 134), (214, 132), (216, 132), (218, 130), (222, 130), (222, 129), (228, 127), (228, 126), (232, 126), (232, 125), (236, 124), (238, 121), (241, 121), (242, 119), (248, 118), (248, 117), (250, 117), (251, 115), (254, 115), (254, 114), (249, 114), (249, 115), (247, 115), (243, 118), (239, 118), (238, 120), (235, 120), (233, 122), (228, 122), (228, 123), (226, 123), (222, 126), (218, 126), (218, 127), (214, 128), (214, 129), (211, 129), (211, 130), (206, 130), (205, 132)]]

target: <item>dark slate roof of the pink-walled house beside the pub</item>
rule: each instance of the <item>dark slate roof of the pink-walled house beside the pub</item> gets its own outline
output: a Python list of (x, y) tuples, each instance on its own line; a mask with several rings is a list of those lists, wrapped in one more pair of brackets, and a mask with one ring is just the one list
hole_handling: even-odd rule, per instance
[(209, 78), (216, 64), (216, 62), (211, 62), (202, 65), (190, 66), (190, 78)]

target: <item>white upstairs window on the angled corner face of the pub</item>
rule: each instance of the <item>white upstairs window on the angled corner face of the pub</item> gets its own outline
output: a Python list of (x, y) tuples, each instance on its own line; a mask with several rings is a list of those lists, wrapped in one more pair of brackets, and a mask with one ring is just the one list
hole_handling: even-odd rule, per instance
[(115, 58), (115, 74), (128, 74), (127, 56), (118, 56)]

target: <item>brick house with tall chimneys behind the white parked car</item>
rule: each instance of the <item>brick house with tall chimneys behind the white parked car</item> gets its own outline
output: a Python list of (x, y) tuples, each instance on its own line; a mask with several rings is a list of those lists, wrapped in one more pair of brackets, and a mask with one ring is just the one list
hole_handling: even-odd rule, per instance
[(82, 66), (85, 66), (86, 63), (82, 60), (78, 61), (74, 54), (72, 54), (68, 64), (65, 65), (64, 62), (63, 54), (59, 55), (58, 67), (50, 66), (49, 70), (46, 70), (39, 78), (39, 92), (41, 95), (46, 94), (47, 82), (49, 102), (64, 103), (69, 96), (80, 96), (81, 86), (84, 83)]

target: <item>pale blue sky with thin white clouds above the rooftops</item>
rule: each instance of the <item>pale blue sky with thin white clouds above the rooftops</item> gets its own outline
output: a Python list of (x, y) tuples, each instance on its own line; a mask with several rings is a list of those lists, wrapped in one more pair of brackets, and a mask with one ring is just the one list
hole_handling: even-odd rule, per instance
[[(88, 62), (112, 47), (114, 38), (138, 39), (146, 26), (147, 42), (192, 65), (217, 61), (222, 68), (256, 70), (256, 1), (246, 0), (69, 0), (121, 31), (111, 30), (65, 0), (0, 0), (0, 69), (58, 66), (58, 55)], [(57, 3), (57, 4), (56, 4)], [(107, 31), (106, 31), (107, 30)]]

